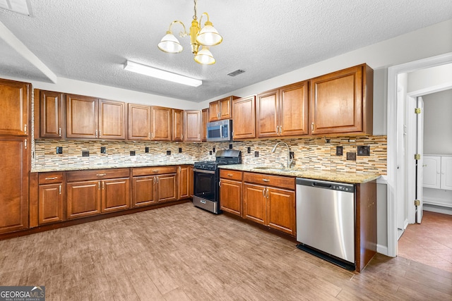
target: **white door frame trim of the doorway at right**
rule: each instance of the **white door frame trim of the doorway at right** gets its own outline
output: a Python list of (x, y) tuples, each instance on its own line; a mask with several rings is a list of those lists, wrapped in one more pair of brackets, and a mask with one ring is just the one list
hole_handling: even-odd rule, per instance
[[(397, 175), (397, 118), (403, 112), (397, 110), (397, 75), (400, 73), (408, 73), (415, 70), (429, 68), (446, 63), (452, 63), (452, 52), (448, 54), (441, 54), (439, 56), (432, 56), (431, 58), (404, 63), (388, 68), (388, 177), (387, 177), (387, 202), (388, 202), (388, 256), (397, 256), (397, 202), (396, 193), (398, 189), (403, 189), (403, 183), (396, 183)], [(439, 89), (436, 92), (447, 90), (452, 86), (442, 85), (444, 87), (435, 87)], [(418, 91), (420, 92), (420, 91)], [(429, 91), (429, 93), (433, 93)], [(411, 93), (410, 93), (411, 94)], [(427, 94), (424, 92), (423, 94)], [(422, 95), (422, 94), (420, 94)], [(411, 95), (413, 96), (413, 95)], [(403, 133), (402, 133), (403, 135)]]

